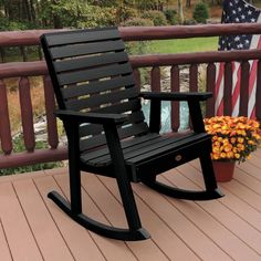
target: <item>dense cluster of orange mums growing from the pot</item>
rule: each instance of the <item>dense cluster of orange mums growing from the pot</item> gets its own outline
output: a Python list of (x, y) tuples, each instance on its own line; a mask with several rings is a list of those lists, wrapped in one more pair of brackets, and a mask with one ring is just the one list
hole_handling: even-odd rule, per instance
[(205, 118), (206, 132), (212, 136), (213, 160), (244, 161), (261, 145), (260, 124), (244, 116)]

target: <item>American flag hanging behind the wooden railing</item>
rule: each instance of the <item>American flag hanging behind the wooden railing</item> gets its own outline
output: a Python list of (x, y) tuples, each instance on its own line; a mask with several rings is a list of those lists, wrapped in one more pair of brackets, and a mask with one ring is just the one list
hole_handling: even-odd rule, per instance
[[(260, 23), (261, 10), (249, 4), (244, 0), (225, 0), (222, 23)], [(243, 50), (243, 49), (261, 49), (260, 35), (225, 35), (219, 38), (219, 51), (221, 50)], [(249, 61), (249, 104), (248, 117), (255, 117), (255, 91), (257, 91), (257, 66), (258, 61)], [(217, 71), (216, 81), (216, 114), (223, 114), (223, 70), (225, 64), (220, 63)], [(232, 85), (232, 116), (239, 114), (240, 101), (240, 63), (232, 62), (233, 85)]]

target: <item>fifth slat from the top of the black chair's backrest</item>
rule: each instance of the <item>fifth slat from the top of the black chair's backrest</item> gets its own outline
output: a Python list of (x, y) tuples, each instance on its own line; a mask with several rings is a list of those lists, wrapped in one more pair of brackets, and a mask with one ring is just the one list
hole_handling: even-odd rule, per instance
[(77, 86), (69, 86), (66, 88), (62, 88), (63, 97), (64, 98), (72, 98), (82, 95), (98, 93), (98, 92), (106, 92), (108, 90), (115, 90), (118, 87), (124, 86), (132, 86), (134, 85), (133, 75), (126, 75), (115, 79), (108, 79), (104, 81), (94, 81), (88, 84), (82, 84)]

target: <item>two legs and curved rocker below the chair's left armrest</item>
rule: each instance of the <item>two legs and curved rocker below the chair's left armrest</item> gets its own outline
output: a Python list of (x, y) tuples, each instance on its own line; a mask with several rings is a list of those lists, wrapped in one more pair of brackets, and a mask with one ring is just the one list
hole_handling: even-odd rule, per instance
[[(115, 130), (111, 132), (112, 129), (113, 127), (107, 130), (107, 135), (113, 139), (115, 136)], [(77, 142), (76, 138), (77, 135), (76, 132), (74, 132), (74, 136), (71, 138), (72, 144), (69, 144), (71, 203), (56, 191), (51, 191), (48, 197), (52, 199), (65, 213), (67, 213), (77, 223), (101, 236), (105, 236), (112, 239), (132, 241), (148, 239), (148, 232), (142, 228), (133, 190), (130, 187), (130, 181), (127, 177), (124, 160), (121, 158), (121, 152), (118, 150), (121, 147), (117, 147), (114, 143), (112, 148), (112, 159), (114, 163), (115, 176), (128, 222), (128, 229), (115, 228), (97, 222), (96, 220), (88, 218), (82, 212), (81, 171), (79, 167), (79, 158), (76, 158), (80, 154), (77, 150), (75, 150), (75, 147), (77, 146), (74, 146), (73, 144)]]

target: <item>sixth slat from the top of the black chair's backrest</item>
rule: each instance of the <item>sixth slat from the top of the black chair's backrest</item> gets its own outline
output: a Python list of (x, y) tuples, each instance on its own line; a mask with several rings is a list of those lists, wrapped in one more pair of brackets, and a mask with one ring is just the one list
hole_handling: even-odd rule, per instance
[(66, 107), (70, 109), (81, 111), (84, 108), (98, 107), (102, 104), (116, 103), (123, 100), (134, 98), (137, 96), (138, 96), (137, 88), (132, 87), (118, 92), (94, 95), (82, 100), (71, 100), (65, 104)]

